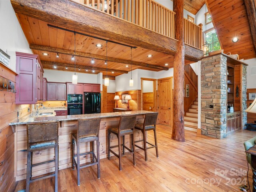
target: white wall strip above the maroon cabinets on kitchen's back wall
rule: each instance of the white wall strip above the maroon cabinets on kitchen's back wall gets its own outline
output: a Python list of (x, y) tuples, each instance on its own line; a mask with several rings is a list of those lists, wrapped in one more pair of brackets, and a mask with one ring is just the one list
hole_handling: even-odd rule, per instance
[[(74, 72), (44, 69), (44, 77), (51, 82), (72, 82)], [(78, 73), (79, 83), (98, 83), (97, 74)]]

